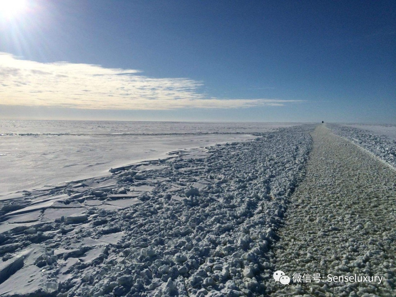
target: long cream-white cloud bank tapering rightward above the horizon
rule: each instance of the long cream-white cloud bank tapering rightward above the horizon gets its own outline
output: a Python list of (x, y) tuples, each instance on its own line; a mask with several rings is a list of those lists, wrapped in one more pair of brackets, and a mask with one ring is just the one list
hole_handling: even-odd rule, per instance
[(282, 106), (302, 100), (212, 98), (202, 82), (150, 78), (139, 70), (68, 62), (39, 63), (0, 53), (0, 105), (161, 110)]

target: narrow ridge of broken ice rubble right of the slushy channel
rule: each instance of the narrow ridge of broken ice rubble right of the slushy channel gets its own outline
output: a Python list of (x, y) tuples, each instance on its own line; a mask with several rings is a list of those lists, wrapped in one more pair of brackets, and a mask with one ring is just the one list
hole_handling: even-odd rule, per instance
[(396, 141), (385, 135), (376, 135), (370, 131), (342, 126), (342, 124), (327, 124), (339, 136), (366, 149), (368, 152), (383, 160), (386, 164), (396, 169)]

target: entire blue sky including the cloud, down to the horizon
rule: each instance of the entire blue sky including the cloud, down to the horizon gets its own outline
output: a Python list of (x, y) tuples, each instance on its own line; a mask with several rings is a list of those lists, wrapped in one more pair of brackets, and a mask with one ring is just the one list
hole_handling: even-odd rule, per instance
[(0, 117), (395, 123), (395, 19), (394, 1), (32, 0), (0, 21)]

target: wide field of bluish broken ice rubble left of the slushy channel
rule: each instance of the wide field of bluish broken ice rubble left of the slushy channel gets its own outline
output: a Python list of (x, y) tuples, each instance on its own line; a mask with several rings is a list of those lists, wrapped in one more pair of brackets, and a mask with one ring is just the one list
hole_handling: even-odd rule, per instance
[(270, 245), (303, 178), (313, 127), (3, 199), (0, 296), (265, 293)]

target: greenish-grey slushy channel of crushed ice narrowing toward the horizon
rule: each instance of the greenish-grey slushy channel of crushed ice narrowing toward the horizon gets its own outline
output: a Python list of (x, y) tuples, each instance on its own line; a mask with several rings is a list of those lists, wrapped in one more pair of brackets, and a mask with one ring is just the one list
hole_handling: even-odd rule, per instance
[[(270, 296), (395, 296), (396, 174), (324, 125), (313, 133), (307, 176), (291, 196), (272, 247)], [(298, 283), (293, 274), (310, 274)], [(319, 283), (313, 279), (320, 274)], [(328, 282), (333, 276), (379, 276), (375, 282)]]

